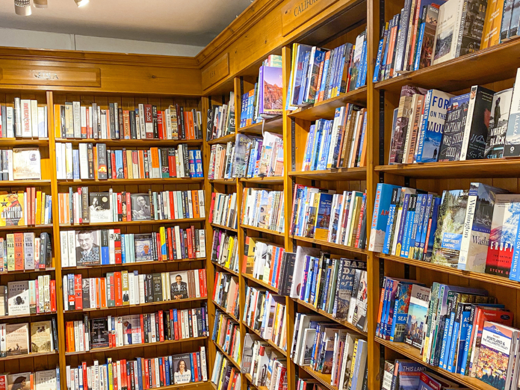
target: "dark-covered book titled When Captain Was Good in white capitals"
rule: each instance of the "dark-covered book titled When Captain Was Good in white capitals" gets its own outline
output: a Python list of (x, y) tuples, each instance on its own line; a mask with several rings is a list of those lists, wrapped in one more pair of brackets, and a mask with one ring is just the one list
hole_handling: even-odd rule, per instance
[(469, 103), (469, 93), (454, 96), (450, 99), (450, 108), (446, 112), (443, 143), (439, 151), (439, 161), (458, 161), (460, 159)]

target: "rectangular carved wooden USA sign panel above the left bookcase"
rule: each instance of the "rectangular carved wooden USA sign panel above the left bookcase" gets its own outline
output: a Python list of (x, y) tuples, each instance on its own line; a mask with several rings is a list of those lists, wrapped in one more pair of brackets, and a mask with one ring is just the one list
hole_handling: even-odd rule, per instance
[(101, 87), (99, 68), (2, 64), (0, 84)]

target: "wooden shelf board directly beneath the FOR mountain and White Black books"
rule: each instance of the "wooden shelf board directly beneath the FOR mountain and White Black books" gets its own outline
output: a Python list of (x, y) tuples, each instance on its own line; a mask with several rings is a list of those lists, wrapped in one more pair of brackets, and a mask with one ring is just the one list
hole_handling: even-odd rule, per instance
[(423, 179), (520, 177), (520, 158), (378, 165), (375, 170)]

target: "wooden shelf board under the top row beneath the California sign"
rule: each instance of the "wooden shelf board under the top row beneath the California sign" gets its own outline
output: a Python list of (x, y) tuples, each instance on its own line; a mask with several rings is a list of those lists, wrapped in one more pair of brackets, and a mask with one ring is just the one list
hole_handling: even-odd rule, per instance
[(361, 106), (366, 106), (367, 87), (355, 89), (332, 99), (320, 101), (314, 105), (298, 108), (294, 111), (289, 111), (287, 116), (290, 118), (304, 119), (306, 121), (316, 121), (321, 118), (334, 119), (336, 108), (345, 106), (346, 103), (355, 103)]

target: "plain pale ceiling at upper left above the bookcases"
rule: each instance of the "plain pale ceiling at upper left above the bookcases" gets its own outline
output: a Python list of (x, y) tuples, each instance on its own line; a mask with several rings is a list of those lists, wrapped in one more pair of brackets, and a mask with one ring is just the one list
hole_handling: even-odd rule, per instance
[[(32, 3), (32, 1), (31, 1)], [(32, 15), (15, 14), (0, 0), (0, 27), (127, 40), (205, 46), (251, 4), (251, 0), (48, 0)]]

